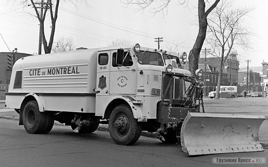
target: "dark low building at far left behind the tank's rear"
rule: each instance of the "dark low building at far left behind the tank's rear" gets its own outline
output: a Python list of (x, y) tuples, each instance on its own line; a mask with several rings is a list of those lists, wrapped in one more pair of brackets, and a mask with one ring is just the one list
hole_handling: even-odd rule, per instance
[(8, 55), (13, 54), (14, 62), (21, 57), (30, 56), (27, 53), (0, 52), (0, 84), (9, 84), (12, 70), (8, 68)]

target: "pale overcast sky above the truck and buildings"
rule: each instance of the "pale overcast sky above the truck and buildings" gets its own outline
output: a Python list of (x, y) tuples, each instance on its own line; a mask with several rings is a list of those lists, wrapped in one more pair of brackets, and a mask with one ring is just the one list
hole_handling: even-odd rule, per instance
[[(126, 2), (126, 0), (121, 0)], [(88, 0), (89, 5), (76, 5), (60, 1), (54, 41), (61, 37), (72, 37), (75, 48), (99, 48), (111, 45), (112, 41), (128, 40), (130, 44), (157, 48), (154, 38), (163, 37), (160, 48), (180, 43), (179, 52), (187, 54), (192, 49), (198, 34), (197, 0), (179, 5), (178, 0), (171, 1), (168, 12), (151, 13), (153, 7), (161, 1), (152, 3), (148, 9), (137, 11), (136, 5), (124, 5), (120, 0)], [(181, 2), (182, 0), (180, 0)], [(31, 6), (7, 3), (0, 0), (0, 52), (18, 49), (21, 53), (38, 53), (39, 22)], [(30, 1), (29, 1), (30, 2)], [(38, 2), (38, 1), (36, 1)], [(255, 9), (244, 18), (255, 36), (251, 37), (252, 49), (238, 50), (240, 67), (247, 67), (245, 60), (251, 60), (249, 67), (261, 66), (268, 62), (266, 48), (268, 44), (268, 1), (235, 0), (235, 6), (254, 6)], [(30, 3), (29, 3), (30, 4)], [(45, 21), (47, 41), (51, 31), (50, 17)], [(56, 45), (57, 43), (54, 43)], [(209, 48), (204, 44), (203, 48)], [(44, 53), (44, 50), (42, 51)]]

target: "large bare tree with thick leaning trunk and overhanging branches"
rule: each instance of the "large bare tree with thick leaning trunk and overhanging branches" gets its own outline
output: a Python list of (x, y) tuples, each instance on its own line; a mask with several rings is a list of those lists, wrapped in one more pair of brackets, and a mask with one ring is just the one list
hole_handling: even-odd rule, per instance
[[(213, 0), (214, 1), (214, 0)], [(195, 76), (195, 70), (198, 69), (198, 58), (201, 48), (203, 46), (204, 40), (206, 38), (206, 31), (207, 31), (207, 16), (209, 13), (217, 6), (220, 0), (215, 0), (214, 3), (205, 10), (205, 1), (198, 0), (198, 20), (199, 20), (199, 31), (197, 38), (195, 40), (195, 44), (189, 53), (189, 70), (191, 71), (192, 76)], [(127, 5), (135, 4), (138, 6), (138, 11), (144, 11), (145, 8), (150, 6), (152, 2), (157, 2), (157, 0), (126, 0)], [(151, 13), (158, 13), (163, 12), (166, 10), (168, 12), (168, 5), (171, 0), (162, 0), (158, 7), (153, 7), (150, 11)], [(208, 1), (206, 1), (209, 3)], [(188, 0), (179, 1), (180, 4), (188, 3)]]

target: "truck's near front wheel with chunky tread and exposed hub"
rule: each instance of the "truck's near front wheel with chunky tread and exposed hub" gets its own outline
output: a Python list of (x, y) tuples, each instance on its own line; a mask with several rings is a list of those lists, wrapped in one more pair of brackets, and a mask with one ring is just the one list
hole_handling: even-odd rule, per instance
[(134, 118), (131, 108), (126, 104), (116, 106), (109, 119), (111, 138), (118, 145), (132, 145), (142, 133), (142, 125)]

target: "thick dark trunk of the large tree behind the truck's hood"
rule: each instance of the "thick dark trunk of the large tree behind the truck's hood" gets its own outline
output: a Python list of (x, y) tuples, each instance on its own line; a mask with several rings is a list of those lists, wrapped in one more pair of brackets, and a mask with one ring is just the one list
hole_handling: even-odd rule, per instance
[(205, 14), (205, 2), (204, 0), (198, 0), (198, 20), (199, 20), (199, 31), (196, 38), (195, 44), (189, 53), (189, 70), (192, 76), (195, 75), (195, 70), (198, 69), (198, 59), (207, 32), (207, 18)]

